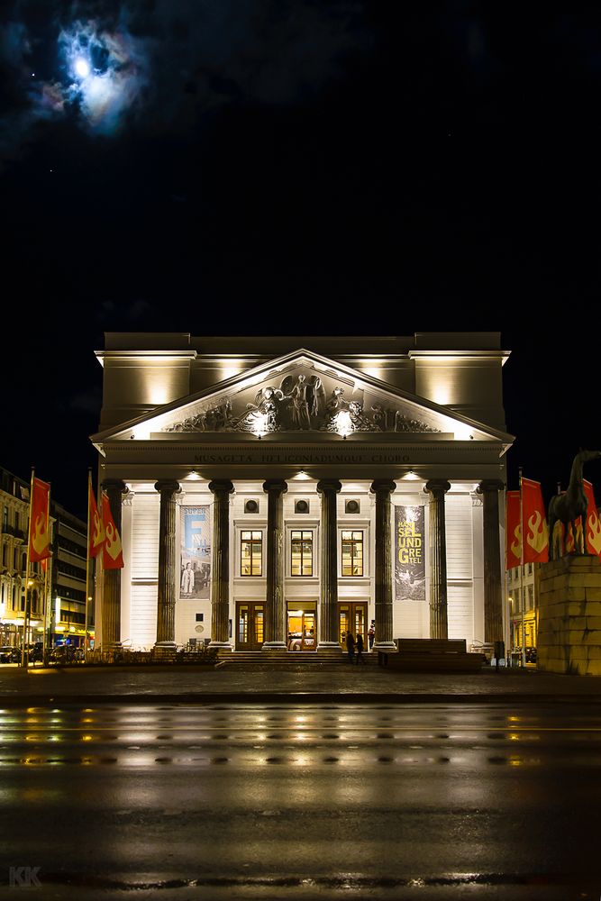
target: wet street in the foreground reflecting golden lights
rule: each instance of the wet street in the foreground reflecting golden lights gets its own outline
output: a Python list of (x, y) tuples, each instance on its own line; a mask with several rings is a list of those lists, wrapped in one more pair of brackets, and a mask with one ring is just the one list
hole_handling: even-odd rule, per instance
[(596, 705), (5, 708), (0, 798), (19, 898), (601, 896)]

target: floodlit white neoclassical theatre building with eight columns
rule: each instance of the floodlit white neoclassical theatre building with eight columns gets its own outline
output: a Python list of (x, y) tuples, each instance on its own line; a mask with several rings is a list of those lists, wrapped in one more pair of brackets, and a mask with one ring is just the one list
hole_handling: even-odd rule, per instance
[(505, 635), (497, 332), (107, 333), (96, 644), (339, 653)]

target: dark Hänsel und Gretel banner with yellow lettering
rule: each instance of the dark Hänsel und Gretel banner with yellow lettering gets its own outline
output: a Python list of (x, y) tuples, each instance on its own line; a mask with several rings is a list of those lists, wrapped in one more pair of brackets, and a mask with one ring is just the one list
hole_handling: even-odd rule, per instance
[(425, 600), (423, 506), (395, 505), (395, 597)]

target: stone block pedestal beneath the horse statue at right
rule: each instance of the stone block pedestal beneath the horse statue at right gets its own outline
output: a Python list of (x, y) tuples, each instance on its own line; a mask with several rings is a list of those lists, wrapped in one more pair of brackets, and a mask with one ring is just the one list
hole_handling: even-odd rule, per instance
[(543, 563), (538, 669), (601, 676), (601, 560), (568, 556)]

